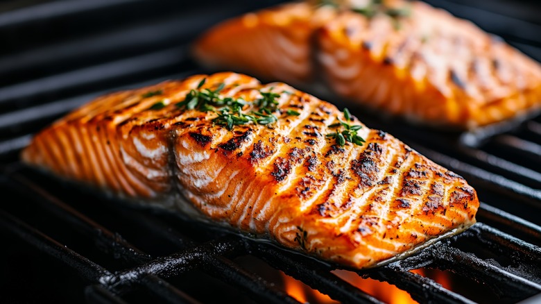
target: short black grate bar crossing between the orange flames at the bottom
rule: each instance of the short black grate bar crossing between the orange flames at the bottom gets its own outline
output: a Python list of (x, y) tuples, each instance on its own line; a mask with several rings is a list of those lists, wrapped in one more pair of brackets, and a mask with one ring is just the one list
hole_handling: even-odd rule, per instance
[[(400, 265), (400, 263), (396, 265)], [(379, 271), (370, 271), (368, 277), (389, 282), (406, 290), (415, 301), (420, 303), (474, 303), (460, 294), (443, 288), (442, 285), (429, 278), (406, 271), (395, 264), (381, 267)]]

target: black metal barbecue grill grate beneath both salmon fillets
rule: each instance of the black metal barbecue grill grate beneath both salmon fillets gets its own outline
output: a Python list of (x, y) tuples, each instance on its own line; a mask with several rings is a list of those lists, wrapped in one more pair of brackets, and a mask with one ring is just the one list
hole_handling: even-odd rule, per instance
[[(31, 134), (94, 96), (202, 72), (189, 58), (194, 37), (278, 2), (0, 3), (2, 302), (298, 303), (285, 273), (335, 301), (380, 303), (335, 265), (74, 187), (17, 160)], [(541, 60), (540, 4), (428, 2)], [(464, 176), (483, 201), (470, 230), (359, 276), (421, 303), (539, 303), (541, 117), (456, 133), (350, 109)], [(452, 288), (415, 269), (445, 273)]]

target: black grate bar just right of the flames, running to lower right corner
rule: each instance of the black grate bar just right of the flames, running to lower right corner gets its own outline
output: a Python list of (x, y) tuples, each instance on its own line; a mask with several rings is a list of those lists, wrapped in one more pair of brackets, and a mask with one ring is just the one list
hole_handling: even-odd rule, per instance
[(525, 294), (533, 296), (541, 292), (541, 285), (501, 269), (474, 255), (467, 254), (458, 248), (440, 246), (439, 251), (445, 253), (434, 256), (439, 269), (449, 269), (477, 282), (483, 282), (499, 296), (522, 298)]

